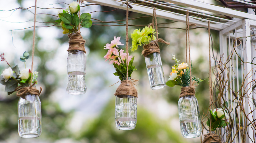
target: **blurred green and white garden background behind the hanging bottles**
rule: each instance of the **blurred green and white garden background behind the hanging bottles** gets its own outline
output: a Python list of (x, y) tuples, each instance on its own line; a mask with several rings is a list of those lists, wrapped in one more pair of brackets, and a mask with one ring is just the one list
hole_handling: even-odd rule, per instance
[[(38, 1), (36, 28), (35, 71), (39, 71), (37, 87), (43, 87), (40, 95), (42, 103), (42, 134), (38, 138), (24, 139), (17, 133), (17, 102), (16, 95), (7, 96), (4, 86), (0, 85), (0, 142), (10, 143), (183, 143), (200, 142), (199, 137), (184, 139), (180, 133), (178, 118), (178, 96), (181, 87), (165, 87), (160, 90), (151, 90), (149, 87), (144, 57), (141, 56), (142, 47), (130, 55), (135, 56), (134, 65), (138, 68), (132, 78), (139, 79), (137, 125), (131, 131), (119, 131), (115, 127), (115, 97), (114, 92), (119, 84), (112, 87), (119, 79), (114, 76), (113, 65), (104, 62), (106, 54), (104, 45), (110, 43), (114, 36), (121, 36), (121, 43), (125, 43), (125, 25), (108, 26), (95, 25), (100, 21), (125, 20), (126, 11), (106, 6), (81, 5), (81, 12), (93, 12), (94, 25), (87, 29), (82, 28), (81, 34), (87, 41), (87, 93), (84, 95), (69, 95), (66, 93), (67, 72), (66, 58), (68, 49), (68, 36), (62, 34), (61, 27), (51, 26), (57, 19), (56, 8), (68, 7), (72, 0)], [(11, 10), (18, 7), (29, 8), (34, 5), (33, 0), (11, 0), (11, 5), (0, 6), (1, 53), (6, 54), (11, 65), (23, 64), (18, 61), (24, 51), (32, 51), (33, 13), (29, 10)], [(85, 7), (82, 7), (85, 6)], [(53, 8), (54, 7), (54, 8)], [(49, 9), (42, 9), (49, 8)], [(100, 11), (99, 11), (100, 10)], [(113, 11), (114, 10), (114, 11)], [(110, 11), (110, 12), (102, 12)], [(139, 19), (133, 19), (142, 17)], [(129, 12), (129, 24), (147, 25), (152, 17)], [(28, 22), (25, 22), (28, 21)], [(20, 23), (23, 22), (23, 23)], [(47, 23), (41, 23), (47, 22)], [(120, 21), (125, 24), (125, 21)], [(171, 60), (174, 54), (179, 60), (185, 62), (185, 24), (158, 18), (161, 26), (159, 37), (169, 41), (170, 45), (160, 44), (161, 59), (165, 80), (169, 78)], [(161, 24), (166, 23), (166, 24)], [(43, 27), (45, 26), (45, 27)], [(47, 27), (50, 26), (50, 27)], [(134, 29), (143, 26), (129, 26), (129, 36)], [(22, 30), (14, 30), (22, 29)], [(9, 31), (12, 30), (12, 31)], [(3, 36), (5, 35), (5, 36)], [(214, 41), (219, 41), (217, 31), (212, 31)], [(208, 57), (204, 54), (208, 50), (207, 29), (197, 28), (190, 32), (191, 56), (193, 61), (193, 75), (206, 79), (196, 87), (196, 97), (199, 101), (200, 113), (207, 110), (209, 100), (208, 90)], [(129, 39), (131, 46), (131, 38)], [(218, 42), (214, 43), (217, 51)], [(121, 47), (121, 46), (120, 46)], [(121, 47), (125, 49), (125, 46)], [(207, 52), (208, 53), (208, 52)], [(28, 59), (31, 65), (31, 58)], [(29, 63), (28, 62), (28, 63)], [(7, 68), (6, 63), (0, 62), (0, 72)]]

